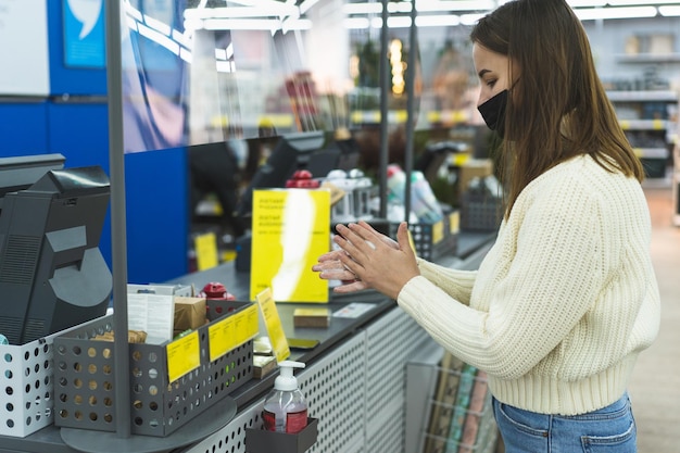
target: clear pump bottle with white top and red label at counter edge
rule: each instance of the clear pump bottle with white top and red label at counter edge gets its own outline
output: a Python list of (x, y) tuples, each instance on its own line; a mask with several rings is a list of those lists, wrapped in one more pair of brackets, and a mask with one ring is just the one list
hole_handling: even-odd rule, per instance
[(264, 429), (294, 433), (307, 426), (307, 403), (298, 388), (293, 368), (304, 368), (300, 362), (284, 361), (278, 364), (279, 376), (274, 381), (274, 389), (264, 400), (262, 418)]

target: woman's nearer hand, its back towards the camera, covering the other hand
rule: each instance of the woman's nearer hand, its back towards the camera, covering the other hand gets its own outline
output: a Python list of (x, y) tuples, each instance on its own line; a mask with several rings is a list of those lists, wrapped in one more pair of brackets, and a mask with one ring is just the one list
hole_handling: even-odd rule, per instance
[(382, 235), (365, 222), (336, 229), (333, 241), (345, 252), (336, 257), (367, 287), (395, 300), (404, 285), (420, 275), (405, 222), (396, 230), (398, 248), (381, 240)]

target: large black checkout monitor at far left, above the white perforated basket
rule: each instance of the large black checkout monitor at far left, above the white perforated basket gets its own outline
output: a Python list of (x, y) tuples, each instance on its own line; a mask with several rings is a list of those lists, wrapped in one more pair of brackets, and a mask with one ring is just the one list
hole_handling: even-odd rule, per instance
[(109, 179), (99, 166), (50, 169), (28, 188), (4, 193), (0, 334), (11, 344), (105, 314), (113, 281), (99, 239), (109, 197)]

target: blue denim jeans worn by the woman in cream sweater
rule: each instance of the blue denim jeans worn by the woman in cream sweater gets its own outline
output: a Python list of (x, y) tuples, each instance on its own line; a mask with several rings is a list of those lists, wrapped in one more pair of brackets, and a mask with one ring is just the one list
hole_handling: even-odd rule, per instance
[(628, 394), (604, 408), (575, 416), (524, 411), (493, 399), (493, 415), (506, 453), (635, 453), (637, 433)]

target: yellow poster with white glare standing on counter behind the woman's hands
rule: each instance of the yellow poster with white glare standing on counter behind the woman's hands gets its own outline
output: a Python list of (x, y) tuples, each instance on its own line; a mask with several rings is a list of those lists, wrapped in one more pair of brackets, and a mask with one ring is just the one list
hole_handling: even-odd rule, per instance
[(276, 302), (328, 302), (328, 281), (312, 270), (330, 250), (330, 192), (253, 191), (250, 298), (272, 288)]

